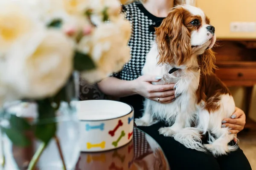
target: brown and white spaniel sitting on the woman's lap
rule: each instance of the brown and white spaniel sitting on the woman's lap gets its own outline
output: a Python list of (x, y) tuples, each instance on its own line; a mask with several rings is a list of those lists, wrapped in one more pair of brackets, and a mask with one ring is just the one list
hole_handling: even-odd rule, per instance
[[(209, 27), (210, 26), (210, 27)], [(163, 75), (155, 84), (174, 84), (175, 95), (169, 104), (145, 99), (143, 117), (137, 126), (150, 126), (166, 121), (159, 133), (172, 136), (188, 148), (212, 152), (214, 156), (236, 150), (228, 146), (234, 135), (221, 128), (221, 121), (230, 118), (235, 103), (227, 87), (213, 73), (215, 29), (204, 12), (193, 6), (176, 6), (156, 28), (156, 41), (146, 56), (143, 75)], [(172, 68), (179, 68), (168, 74)], [(161, 97), (161, 96), (159, 96)], [(209, 144), (201, 137), (209, 133)]]

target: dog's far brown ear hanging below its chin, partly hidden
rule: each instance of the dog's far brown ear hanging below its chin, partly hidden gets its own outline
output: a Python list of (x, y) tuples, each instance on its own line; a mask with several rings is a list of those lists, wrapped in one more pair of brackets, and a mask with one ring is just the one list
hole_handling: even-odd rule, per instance
[(198, 65), (204, 75), (212, 75), (214, 70), (217, 69), (215, 62), (215, 52), (212, 49), (207, 49), (203, 54), (198, 55)]

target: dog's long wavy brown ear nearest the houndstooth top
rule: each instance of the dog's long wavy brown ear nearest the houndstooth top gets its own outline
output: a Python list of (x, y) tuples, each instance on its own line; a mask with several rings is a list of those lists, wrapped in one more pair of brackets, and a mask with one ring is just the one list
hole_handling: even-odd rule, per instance
[(159, 52), (158, 64), (182, 65), (189, 60), (190, 34), (183, 24), (183, 8), (174, 8), (156, 28), (155, 35)]

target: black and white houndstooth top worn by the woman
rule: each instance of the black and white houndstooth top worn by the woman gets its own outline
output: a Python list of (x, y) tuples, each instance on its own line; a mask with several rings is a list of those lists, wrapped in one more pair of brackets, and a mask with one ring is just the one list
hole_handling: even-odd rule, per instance
[(139, 2), (122, 6), (122, 12), (131, 22), (131, 37), (128, 43), (131, 47), (131, 59), (120, 72), (111, 76), (122, 80), (134, 80), (141, 76), (145, 56), (154, 40), (154, 26), (157, 26), (164, 18), (149, 13)]

